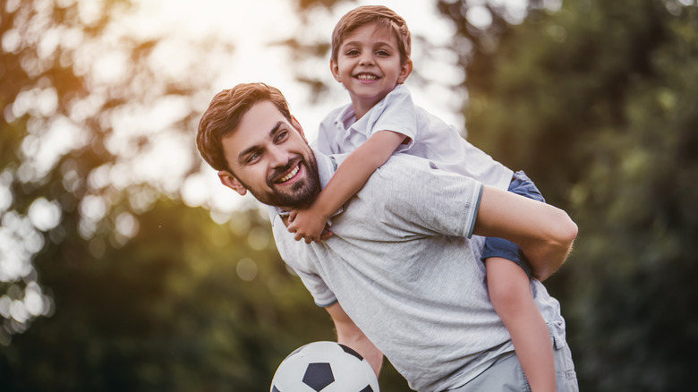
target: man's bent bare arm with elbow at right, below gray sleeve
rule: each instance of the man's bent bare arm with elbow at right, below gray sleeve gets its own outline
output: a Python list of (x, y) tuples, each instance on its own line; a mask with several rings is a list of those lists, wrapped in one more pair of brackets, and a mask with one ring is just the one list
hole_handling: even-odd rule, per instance
[(543, 281), (565, 262), (577, 226), (562, 209), (484, 186), (473, 234), (519, 245), (531, 262), (533, 277)]

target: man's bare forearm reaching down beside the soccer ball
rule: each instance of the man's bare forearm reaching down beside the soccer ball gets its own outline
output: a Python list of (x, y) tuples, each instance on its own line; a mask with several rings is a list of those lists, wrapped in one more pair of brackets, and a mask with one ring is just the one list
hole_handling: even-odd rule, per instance
[(383, 353), (370, 342), (368, 337), (363, 335), (362, 330), (356, 327), (356, 324), (339, 303), (330, 305), (325, 309), (335, 322), (336, 341), (342, 345), (348, 345), (362, 354), (362, 357), (370, 363), (373, 371), (376, 372), (376, 377), (378, 377), (380, 367), (383, 365)]

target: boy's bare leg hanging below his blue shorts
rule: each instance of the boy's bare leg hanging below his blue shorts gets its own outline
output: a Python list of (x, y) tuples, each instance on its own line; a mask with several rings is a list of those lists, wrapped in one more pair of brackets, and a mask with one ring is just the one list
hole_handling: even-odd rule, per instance
[(556, 389), (555, 361), (545, 320), (533, 301), (529, 278), (510, 260), (485, 261), (489, 298), (504, 322), (533, 392)]

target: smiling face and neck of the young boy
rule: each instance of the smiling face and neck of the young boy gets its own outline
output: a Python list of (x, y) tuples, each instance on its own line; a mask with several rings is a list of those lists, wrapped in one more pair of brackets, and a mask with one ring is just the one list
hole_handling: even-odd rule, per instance
[(336, 81), (352, 98), (356, 117), (361, 118), (412, 72), (412, 62), (402, 62), (397, 38), (378, 23), (353, 31), (330, 63)]

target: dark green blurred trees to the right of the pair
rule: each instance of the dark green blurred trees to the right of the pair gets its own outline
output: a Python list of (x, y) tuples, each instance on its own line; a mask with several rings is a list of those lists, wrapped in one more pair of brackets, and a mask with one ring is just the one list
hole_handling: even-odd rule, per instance
[(525, 169), (580, 226), (548, 286), (563, 303), (581, 389), (690, 388), (698, 7), (532, 2), (523, 23), (495, 17), (495, 30), (478, 30), (461, 5), (439, 2), (474, 42), (464, 58), (469, 139)]

